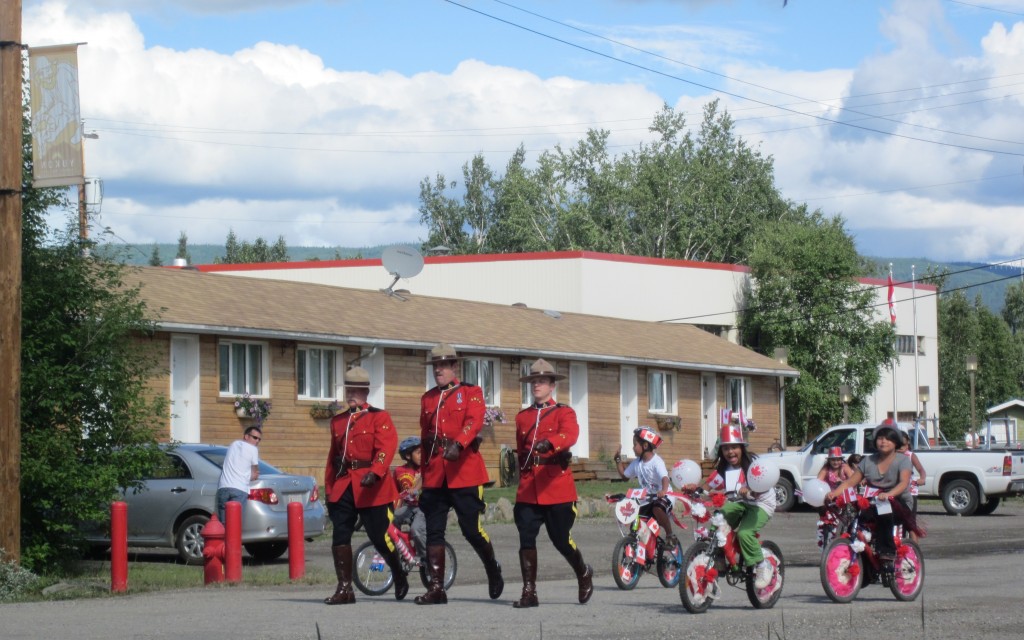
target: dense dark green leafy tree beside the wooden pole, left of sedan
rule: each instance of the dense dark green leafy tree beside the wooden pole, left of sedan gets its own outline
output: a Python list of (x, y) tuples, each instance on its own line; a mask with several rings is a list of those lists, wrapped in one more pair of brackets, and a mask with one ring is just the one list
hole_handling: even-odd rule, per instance
[[(22, 561), (49, 571), (162, 456), (153, 424), (166, 400), (145, 392), (156, 358), (133, 338), (154, 324), (127, 267), (83, 257), (67, 190), (32, 187), (26, 115), (23, 132)], [(68, 213), (60, 231), (44, 218), (54, 208)]]

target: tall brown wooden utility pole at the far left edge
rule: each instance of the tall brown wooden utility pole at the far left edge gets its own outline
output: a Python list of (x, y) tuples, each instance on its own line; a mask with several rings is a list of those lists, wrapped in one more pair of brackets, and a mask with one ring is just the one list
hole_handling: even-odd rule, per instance
[(0, 548), (22, 557), (22, 0), (0, 0)]

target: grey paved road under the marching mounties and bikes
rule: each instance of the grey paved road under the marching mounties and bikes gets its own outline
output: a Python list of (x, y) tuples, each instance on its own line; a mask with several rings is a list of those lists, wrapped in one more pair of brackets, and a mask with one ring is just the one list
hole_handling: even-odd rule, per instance
[[(516, 610), (509, 603), (520, 587), (515, 529), (488, 527), (509, 579), (498, 601), (486, 598), (479, 561), (465, 543), (447, 606), (396, 603), (390, 595), (357, 595), (350, 606), (326, 607), (330, 589), (317, 587), (212, 589), (128, 595), (90, 600), (0, 606), (4, 638), (808, 638), (845, 640), (865, 634), (913, 638), (1019, 638), (1024, 629), (1024, 506), (1000, 507), (992, 516), (953, 518), (926, 506), (930, 537), (924, 543), (927, 583), (915, 602), (897, 602), (888, 590), (866, 588), (849, 605), (824, 596), (816, 566), (810, 512), (778, 514), (765, 529), (786, 556), (786, 586), (775, 608), (755, 610), (743, 592), (726, 589), (702, 615), (686, 613), (679, 593), (645, 575), (623, 592), (610, 577), (616, 529), (610, 520), (586, 520), (575, 537), (598, 569), (594, 599), (575, 603), (575, 582), (550, 546), (541, 548), (541, 606)], [(328, 564), (326, 542), (311, 545), (310, 565)], [(280, 570), (280, 564), (279, 570)], [(198, 570), (198, 569), (197, 569)], [(260, 570), (249, 565), (247, 571)], [(415, 595), (417, 590), (413, 590)]]

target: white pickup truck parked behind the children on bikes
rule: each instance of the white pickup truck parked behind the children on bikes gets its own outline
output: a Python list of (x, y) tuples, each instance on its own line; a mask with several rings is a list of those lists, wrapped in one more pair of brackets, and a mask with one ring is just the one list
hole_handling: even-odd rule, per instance
[[(779, 468), (775, 486), (778, 511), (793, 508), (804, 481), (816, 478), (828, 450), (839, 446), (845, 456), (874, 451), (872, 433), (878, 425), (852, 424), (831, 427), (799, 451), (759, 454)], [(912, 426), (899, 425), (911, 434)], [(922, 498), (941, 498), (947, 513), (987, 515), (1006, 496), (1024, 493), (1024, 451), (914, 449), (925, 467)]]

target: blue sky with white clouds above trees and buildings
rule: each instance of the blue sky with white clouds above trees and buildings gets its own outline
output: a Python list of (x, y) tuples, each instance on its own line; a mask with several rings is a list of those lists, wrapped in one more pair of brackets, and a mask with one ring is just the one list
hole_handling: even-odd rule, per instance
[(23, 41), (87, 43), (127, 243), (418, 244), (424, 178), (719, 99), (861, 254), (1024, 254), (1024, 0), (23, 0)]

